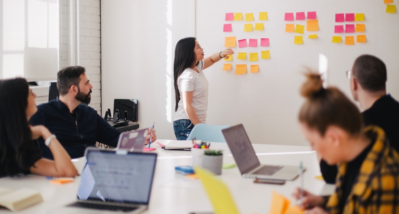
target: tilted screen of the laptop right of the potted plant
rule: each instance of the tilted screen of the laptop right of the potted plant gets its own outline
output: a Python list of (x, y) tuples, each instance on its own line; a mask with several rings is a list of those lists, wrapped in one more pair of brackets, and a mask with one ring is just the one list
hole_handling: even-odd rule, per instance
[(260, 165), (242, 124), (221, 130), (241, 174)]

